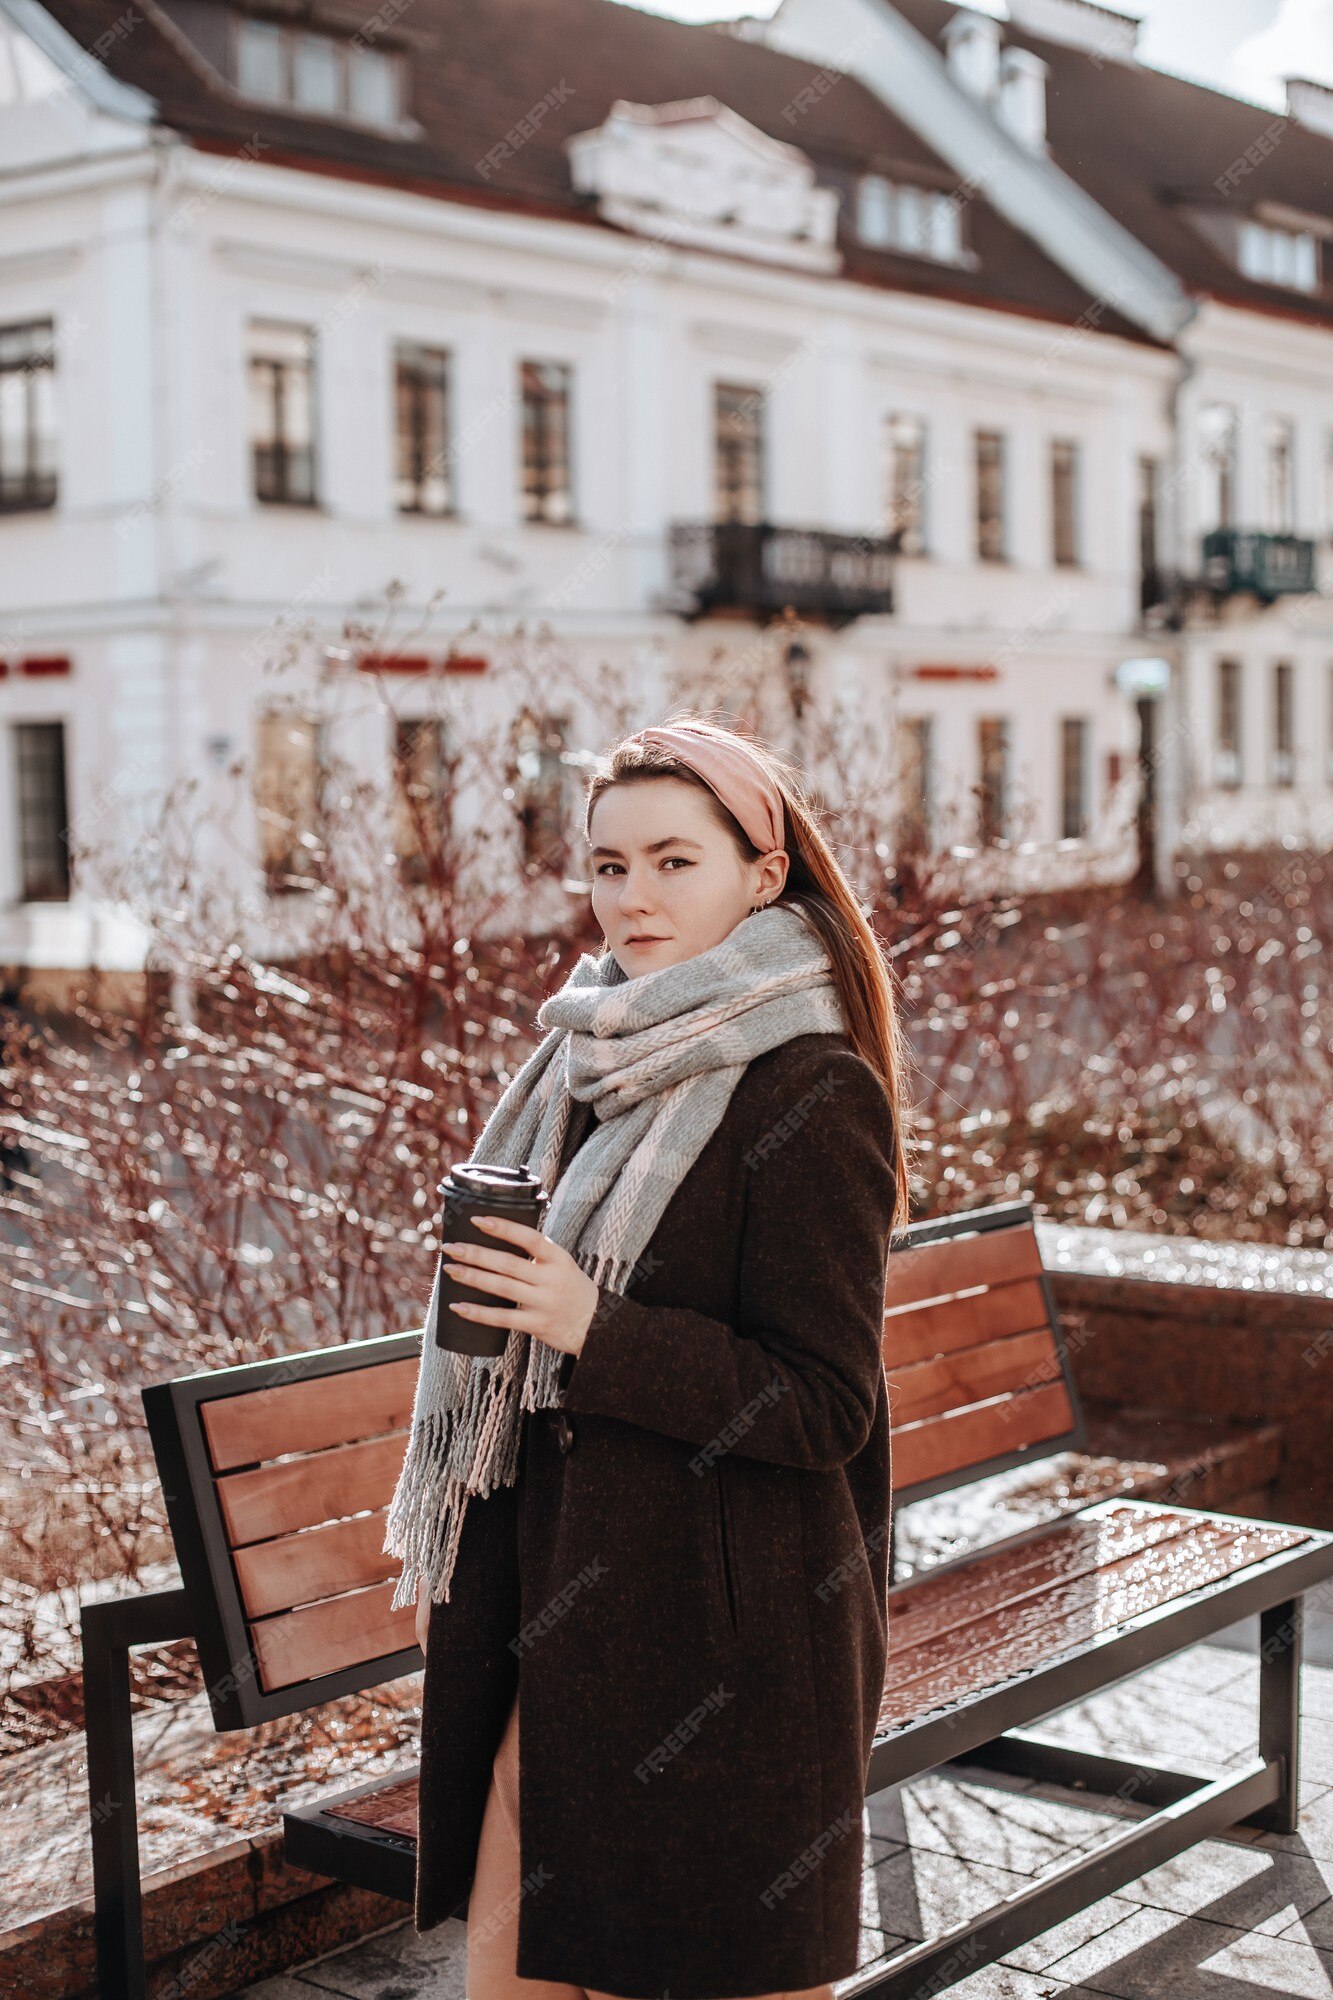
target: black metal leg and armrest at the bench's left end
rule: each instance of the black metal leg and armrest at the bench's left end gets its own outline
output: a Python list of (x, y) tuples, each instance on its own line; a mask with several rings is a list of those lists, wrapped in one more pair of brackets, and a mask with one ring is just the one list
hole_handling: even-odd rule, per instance
[(84, 1604), (84, 1730), (100, 2000), (144, 2000), (144, 1906), (130, 1722), (130, 1646), (194, 1632), (184, 1590)]

